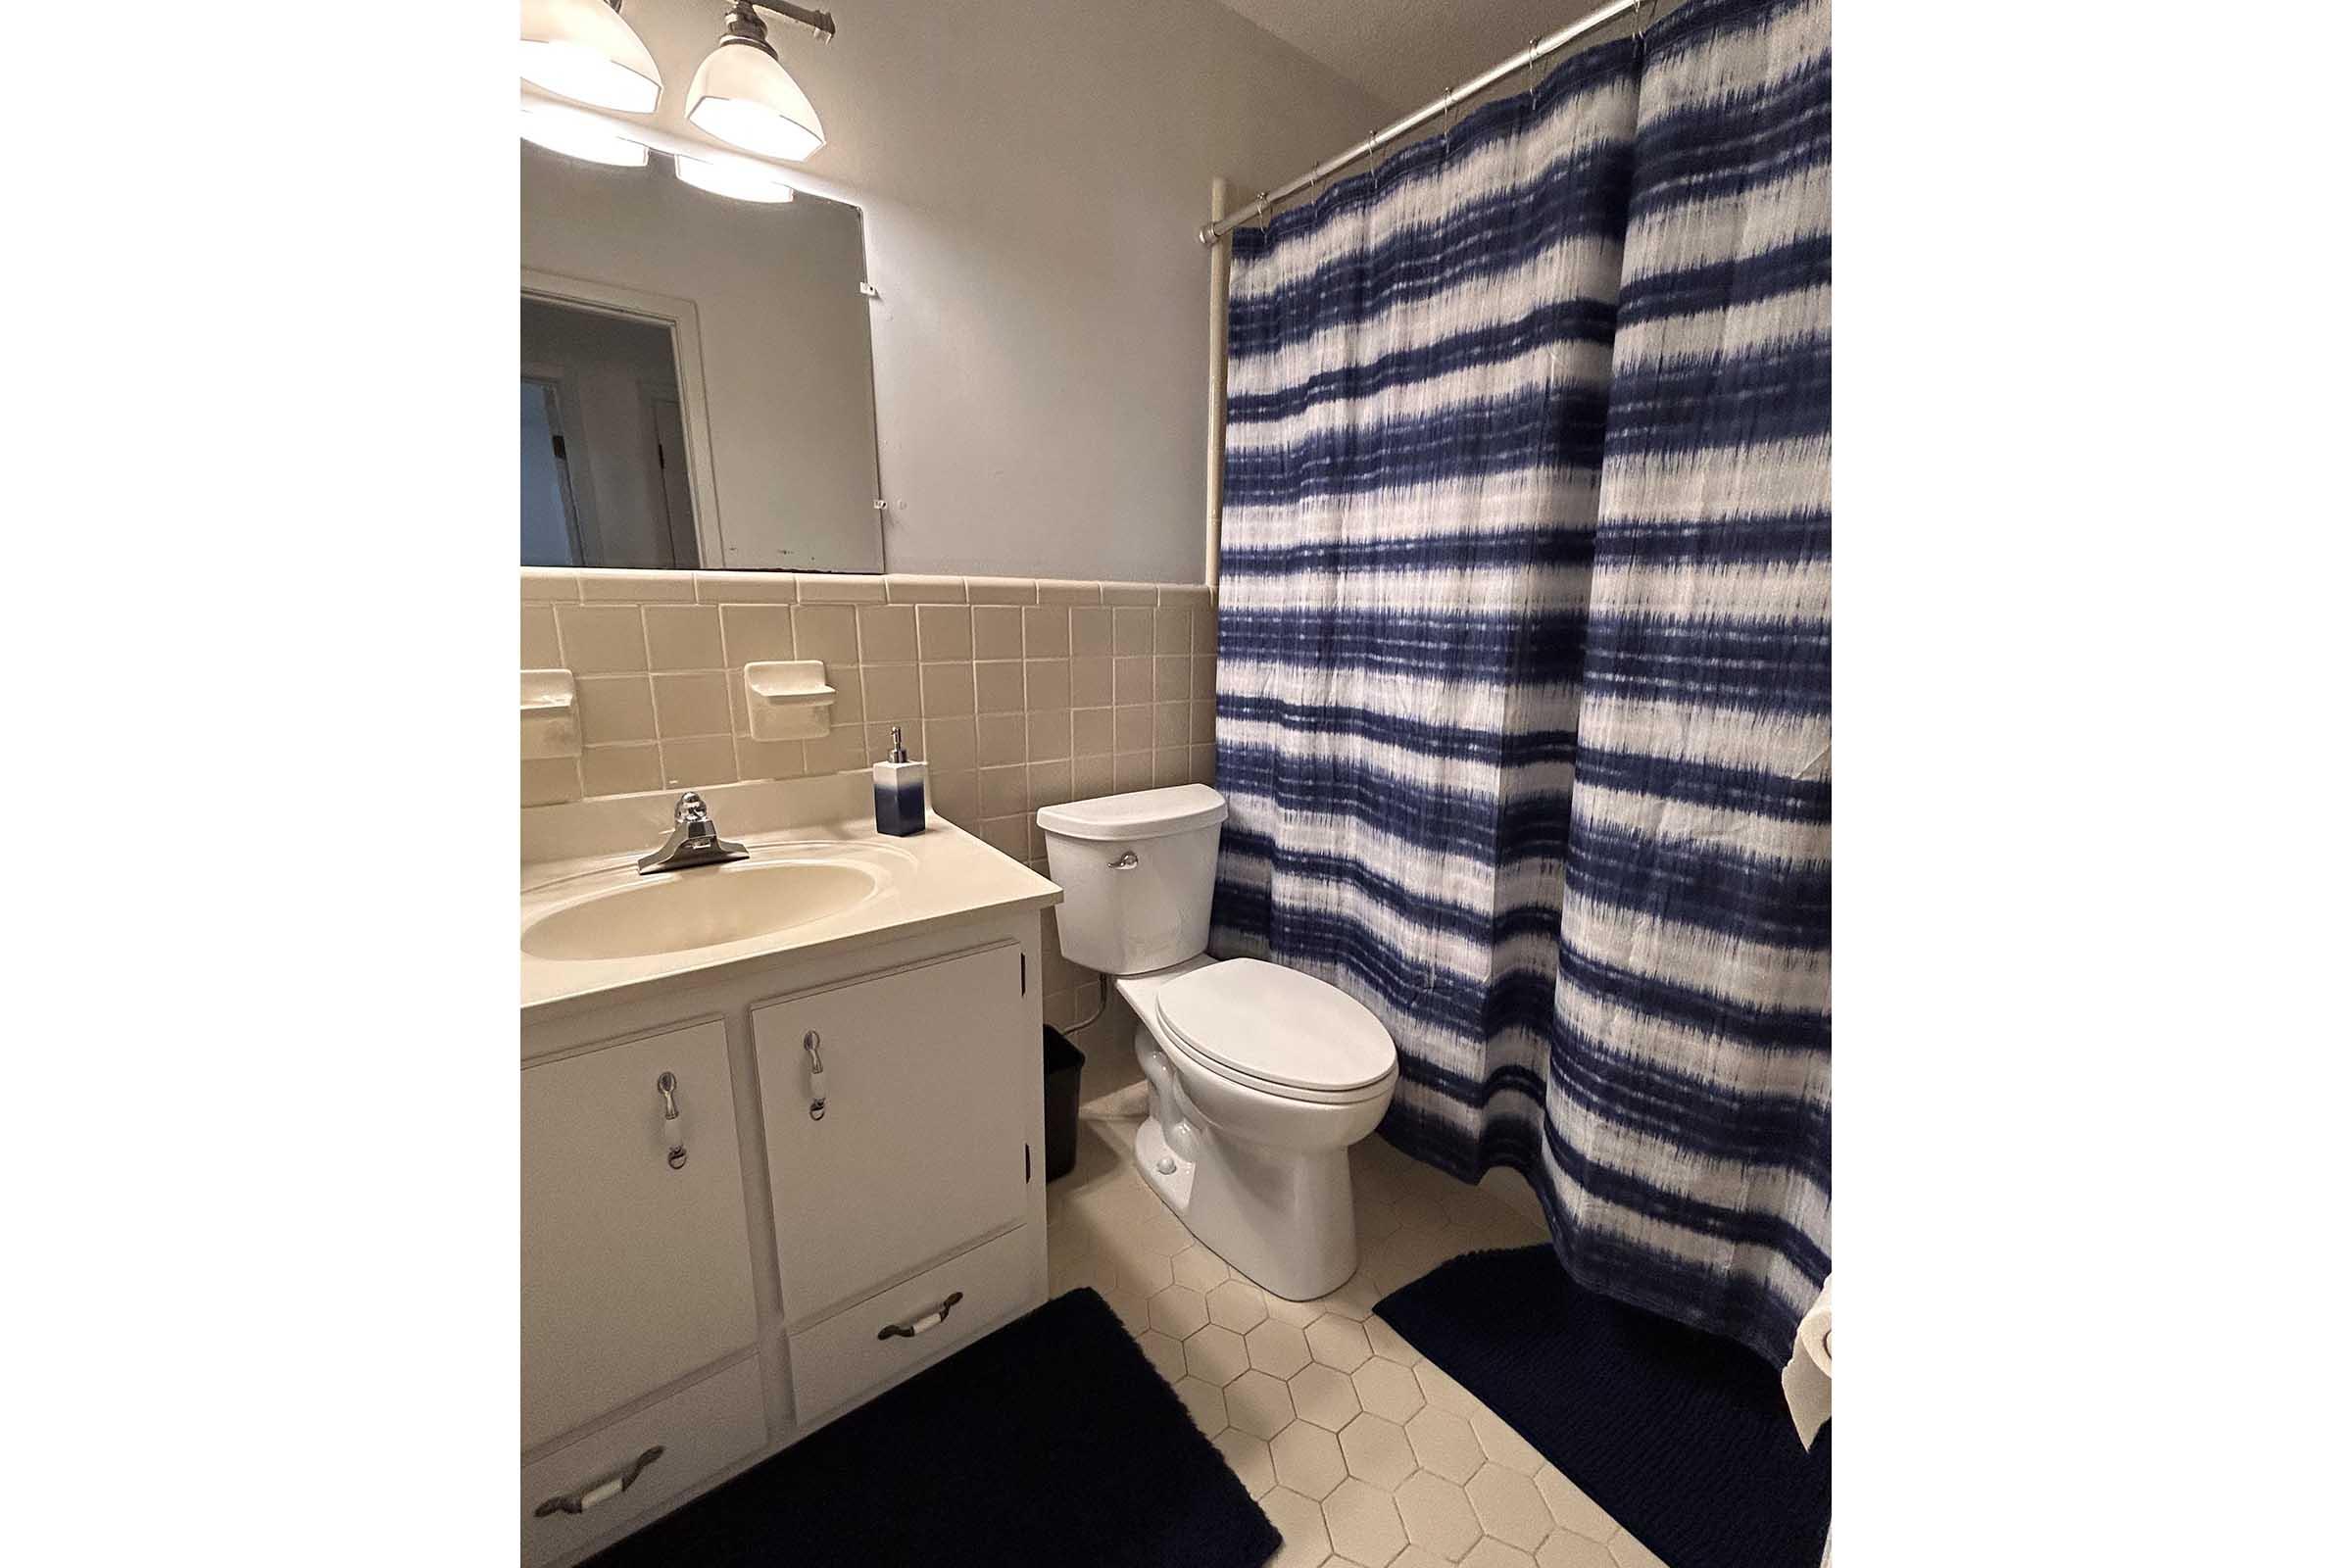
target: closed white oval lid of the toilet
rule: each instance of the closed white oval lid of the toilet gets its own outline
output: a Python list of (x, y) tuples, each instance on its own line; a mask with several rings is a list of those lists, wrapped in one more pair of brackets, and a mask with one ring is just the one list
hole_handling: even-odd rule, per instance
[(1364, 1088), (1397, 1065), (1397, 1044), (1362, 1001), (1258, 959), (1169, 980), (1160, 1023), (1209, 1060), (1291, 1088)]

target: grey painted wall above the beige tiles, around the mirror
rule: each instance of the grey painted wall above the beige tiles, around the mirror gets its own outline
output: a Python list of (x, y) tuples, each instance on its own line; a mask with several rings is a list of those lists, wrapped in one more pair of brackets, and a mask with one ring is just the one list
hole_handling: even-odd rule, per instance
[[(830, 45), (769, 38), (826, 122), (802, 181), (866, 212), (889, 571), (1202, 581), (1209, 181), (1277, 183), (1381, 103), (1214, 0), (830, 9)], [(694, 134), (720, 5), (626, 14)]]

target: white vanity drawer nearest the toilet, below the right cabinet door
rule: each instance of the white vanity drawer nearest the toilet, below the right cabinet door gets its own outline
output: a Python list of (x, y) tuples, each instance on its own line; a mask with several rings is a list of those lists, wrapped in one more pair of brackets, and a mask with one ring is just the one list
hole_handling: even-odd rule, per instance
[[(840, 1406), (1037, 1305), (1035, 1227), (1021, 1225), (936, 1269), (835, 1312), (795, 1335), (793, 1418), (807, 1427)], [(938, 1316), (941, 1302), (960, 1300)], [(910, 1333), (889, 1333), (887, 1328)]]

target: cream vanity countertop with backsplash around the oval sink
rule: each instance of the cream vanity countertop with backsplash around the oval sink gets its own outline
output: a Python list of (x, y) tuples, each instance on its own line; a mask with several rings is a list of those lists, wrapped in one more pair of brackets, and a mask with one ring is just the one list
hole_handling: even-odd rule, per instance
[[(701, 790), (720, 837), (750, 851), (750, 860), (818, 853), (863, 865), (880, 889), (861, 903), (783, 931), (626, 959), (541, 959), (517, 947), (522, 1020), (579, 999), (628, 1001), (684, 990), (786, 954), (818, 954), (917, 936), (953, 922), (1042, 910), (1061, 889), (1018, 860), (990, 849), (936, 811), (910, 837), (875, 832), (873, 780), (866, 773), (760, 780)], [(637, 858), (670, 832), (677, 790), (616, 795), (527, 806), (522, 811), (522, 926), (543, 914), (640, 882)], [(666, 877), (724, 875), (729, 867), (661, 872)]]

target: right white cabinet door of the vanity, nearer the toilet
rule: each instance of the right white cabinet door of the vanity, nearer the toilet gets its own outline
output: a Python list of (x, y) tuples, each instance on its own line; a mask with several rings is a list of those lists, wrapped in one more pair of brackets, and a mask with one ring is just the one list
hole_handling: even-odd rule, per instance
[[(1023, 1218), (1042, 1098), (1021, 950), (753, 1009), (783, 1265), (807, 1324)], [(809, 1044), (826, 1114), (809, 1117)]]

